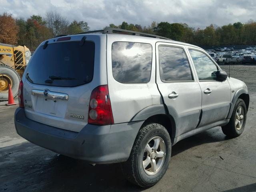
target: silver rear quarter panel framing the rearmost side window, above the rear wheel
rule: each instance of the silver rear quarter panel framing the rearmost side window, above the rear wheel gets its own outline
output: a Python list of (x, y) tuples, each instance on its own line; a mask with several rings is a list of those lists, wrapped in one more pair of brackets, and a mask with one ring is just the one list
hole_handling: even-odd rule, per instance
[[(152, 38), (153, 39), (153, 38)], [(142, 42), (152, 45), (152, 69), (148, 83), (124, 84), (116, 81), (112, 73), (112, 43)], [(148, 106), (162, 104), (160, 93), (156, 86), (155, 40), (151, 38), (107, 35), (107, 74), (108, 90), (112, 106), (114, 123), (130, 122), (141, 110)]]

